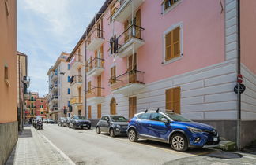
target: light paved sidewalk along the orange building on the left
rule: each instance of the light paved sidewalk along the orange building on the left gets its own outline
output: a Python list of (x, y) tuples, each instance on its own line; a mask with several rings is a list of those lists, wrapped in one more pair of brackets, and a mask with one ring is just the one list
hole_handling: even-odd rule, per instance
[(19, 135), (17, 145), (6, 165), (11, 164), (73, 164), (58, 148), (55, 148), (40, 130), (25, 126)]

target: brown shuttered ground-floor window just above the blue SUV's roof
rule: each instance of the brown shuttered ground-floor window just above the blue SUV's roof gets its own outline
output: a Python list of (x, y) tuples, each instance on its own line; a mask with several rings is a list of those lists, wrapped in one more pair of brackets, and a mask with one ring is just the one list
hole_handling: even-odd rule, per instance
[(180, 87), (165, 90), (165, 108), (180, 113)]

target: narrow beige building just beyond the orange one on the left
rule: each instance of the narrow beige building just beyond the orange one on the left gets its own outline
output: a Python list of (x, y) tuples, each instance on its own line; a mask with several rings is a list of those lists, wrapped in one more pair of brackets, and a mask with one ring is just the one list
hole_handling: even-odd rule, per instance
[(24, 126), (24, 94), (28, 94), (29, 83), (28, 56), (17, 51), (17, 119), (19, 130), (22, 130)]

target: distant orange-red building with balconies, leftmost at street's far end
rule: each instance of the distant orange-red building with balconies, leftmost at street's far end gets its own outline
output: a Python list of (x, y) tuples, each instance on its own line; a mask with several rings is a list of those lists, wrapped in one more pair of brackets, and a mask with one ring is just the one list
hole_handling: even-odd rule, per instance
[(29, 91), (24, 95), (25, 99), (25, 121), (28, 122), (29, 119), (33, 119), (37, 116), (36, 114), (36, 99), (39, 98), (37, 92)]

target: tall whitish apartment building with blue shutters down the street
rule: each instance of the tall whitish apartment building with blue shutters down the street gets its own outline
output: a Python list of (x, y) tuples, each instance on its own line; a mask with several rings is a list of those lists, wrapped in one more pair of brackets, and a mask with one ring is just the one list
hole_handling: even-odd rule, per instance
[(58, 119), (64, 116), (70, 116), (70, 113), (64, 113), (70, 105), (70, 64), (66, 62), (69, 53), (62, 52), (55, 65), (52, 66), (47, 75), (49, 77), (49, 115), (51, 119)]

